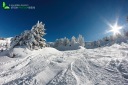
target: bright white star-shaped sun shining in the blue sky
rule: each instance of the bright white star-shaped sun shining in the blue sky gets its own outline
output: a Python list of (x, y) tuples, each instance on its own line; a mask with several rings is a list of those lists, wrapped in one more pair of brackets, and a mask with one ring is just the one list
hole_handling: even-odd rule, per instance
[(123, 26), (118, 26), (117, 21), (114, 25), (109, 24), (109, 26), (111, 29), (108, 32), (112, 32), (113, 35), (121, 34), (120, 30), (123, 28)]

